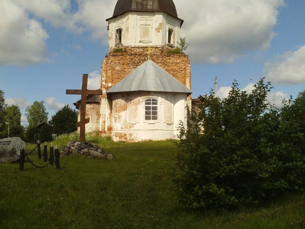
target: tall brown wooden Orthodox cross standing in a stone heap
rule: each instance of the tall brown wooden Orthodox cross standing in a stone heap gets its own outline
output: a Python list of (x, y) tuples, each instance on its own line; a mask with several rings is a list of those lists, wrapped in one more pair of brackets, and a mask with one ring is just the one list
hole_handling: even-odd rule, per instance
[(87, 83), (88, 74), (84, 74), (81, 90), (66, 90), (67, 95), (81, 95), (81, 121), (77, 122), (76, 127), (80, 127), (80, 140), (82, 142), (85, 142), (85, 125), (90, 121), (90, 118), (86, 119), (86, 96), (103, 94), (99, 90), (87, 90)]

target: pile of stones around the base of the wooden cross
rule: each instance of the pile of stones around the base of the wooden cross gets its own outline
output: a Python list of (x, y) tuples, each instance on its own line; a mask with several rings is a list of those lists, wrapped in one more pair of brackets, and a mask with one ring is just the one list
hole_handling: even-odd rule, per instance
[(89, 158), (113, 159), (112, 154), (107, 153), (103, 148), (91, 143), (91, 141), (72, 141), (64, 146), (60, 151), (60, 155), (64, 156), (77, 154), (86, 155)]

